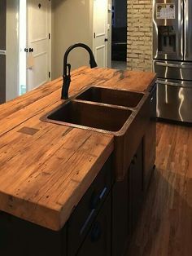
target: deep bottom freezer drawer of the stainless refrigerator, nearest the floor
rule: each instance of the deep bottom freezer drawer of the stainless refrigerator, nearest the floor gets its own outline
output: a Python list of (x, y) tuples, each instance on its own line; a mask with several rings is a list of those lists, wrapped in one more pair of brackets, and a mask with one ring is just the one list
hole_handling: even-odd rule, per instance
[(179, 83), (157, 82), (157, 117), (192, 122), (192, 82), (184, 87)]

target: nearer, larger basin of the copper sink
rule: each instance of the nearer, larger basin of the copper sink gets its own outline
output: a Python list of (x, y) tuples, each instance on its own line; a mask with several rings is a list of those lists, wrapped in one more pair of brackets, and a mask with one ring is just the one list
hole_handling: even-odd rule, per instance
[(132, 113), (133, 111), (129, 109), (68, 100), (68, 102), (48, 113), (44, 117), (44, 121), (116, 133), (122, 129)]

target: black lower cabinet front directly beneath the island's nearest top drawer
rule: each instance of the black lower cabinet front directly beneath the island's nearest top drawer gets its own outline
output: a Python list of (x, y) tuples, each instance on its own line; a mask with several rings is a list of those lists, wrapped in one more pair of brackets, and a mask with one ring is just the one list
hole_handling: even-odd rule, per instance
[(111, 256), (111, 194), (103, 204), (76, 256)]

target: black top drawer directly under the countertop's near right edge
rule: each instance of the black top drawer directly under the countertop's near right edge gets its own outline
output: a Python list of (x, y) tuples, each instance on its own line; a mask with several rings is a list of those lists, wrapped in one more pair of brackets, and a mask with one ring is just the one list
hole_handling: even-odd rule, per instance
[(68, 256), (74, 256), (111, 189), (111, 157), (68, 220)]

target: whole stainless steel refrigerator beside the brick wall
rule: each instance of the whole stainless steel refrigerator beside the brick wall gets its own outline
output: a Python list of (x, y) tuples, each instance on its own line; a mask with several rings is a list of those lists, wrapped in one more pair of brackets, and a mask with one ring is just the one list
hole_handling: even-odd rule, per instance
[(157, 117), (192, 122), (192, 0), (153, 1)]

